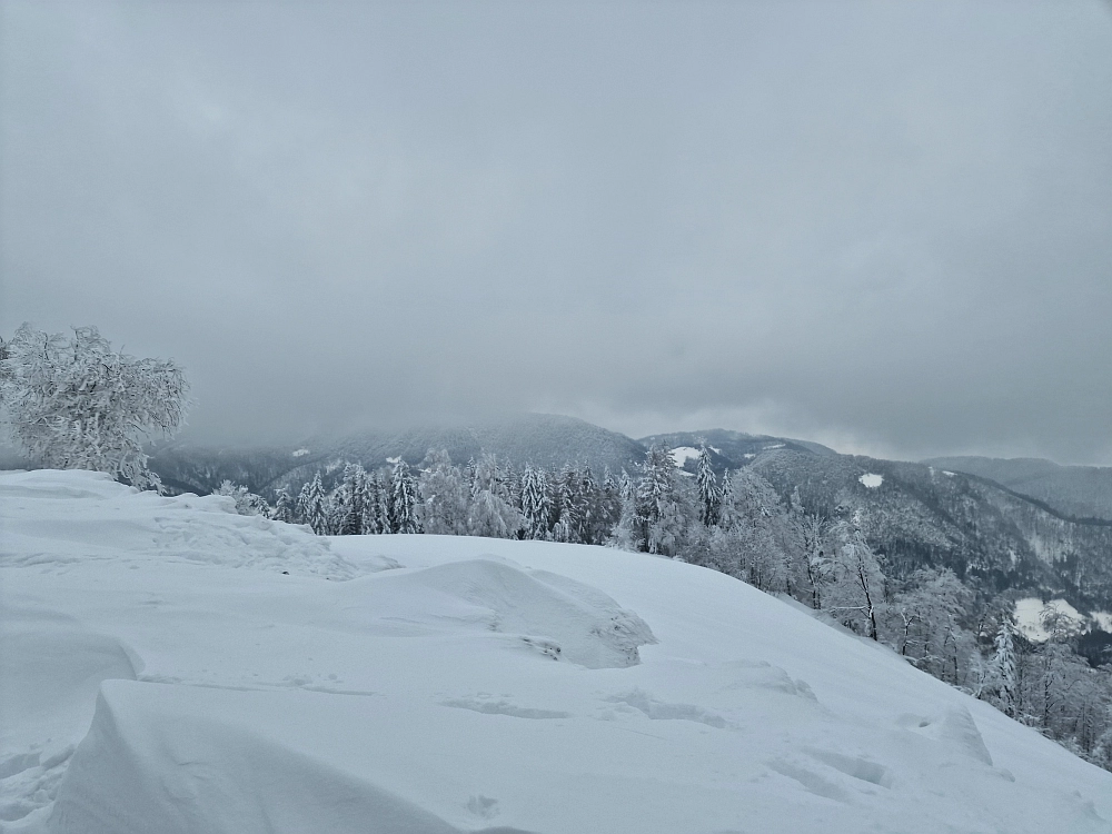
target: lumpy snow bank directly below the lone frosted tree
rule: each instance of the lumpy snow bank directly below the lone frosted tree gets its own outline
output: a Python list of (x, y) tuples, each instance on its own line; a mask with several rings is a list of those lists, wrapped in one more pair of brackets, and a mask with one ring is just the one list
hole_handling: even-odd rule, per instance
[[(0, 480), (0, 564), (192, 562), (350, 579), (356, 566), (309, 530), (241, 516), (228, 496), (160, 496), (101, 473), (39, 469)], [(206, 514), (198, 524), (198, 512)]]

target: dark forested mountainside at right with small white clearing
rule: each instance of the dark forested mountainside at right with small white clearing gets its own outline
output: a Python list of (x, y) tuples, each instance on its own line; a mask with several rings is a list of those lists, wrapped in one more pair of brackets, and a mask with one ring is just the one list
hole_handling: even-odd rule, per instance
[(949, 567), (986, 593), (1009, 588), (1112, 609), (1112, 523), (1079, 522), (993, 481), (923, 464), (777, 449), (754, 470), (821, 514), (860, 508), (887, 572)]

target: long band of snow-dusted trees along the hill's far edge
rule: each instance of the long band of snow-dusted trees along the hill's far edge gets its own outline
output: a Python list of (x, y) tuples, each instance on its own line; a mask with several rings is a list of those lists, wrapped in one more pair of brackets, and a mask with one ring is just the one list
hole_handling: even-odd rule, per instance
[[(695, 477), (663, 446), (632, 475), (587, 466), (515, 470), (484, 456), (464, 467), (443, 450), (411, 469), (348, 464), (331, 490), (320, 473), (274, 506), (242, 487), (219, 492), (244, 513), (305, 524), (320, 535), (490, 536), (609, 545), (703, 565), (784, 594), (909, 663), (1112, 770), (1112, 666), (1078, 654), (1076, 624), (1053, 613), (1045, 643), (1015, 629), (1014, 598), (979, 595), (949, 569), (890, 575), (866, 540), (851, 496), (808, 512), (755, 471), (716, 477), (704, 450)], [(1091, 637), (1092, 635), (1085, 635)]]

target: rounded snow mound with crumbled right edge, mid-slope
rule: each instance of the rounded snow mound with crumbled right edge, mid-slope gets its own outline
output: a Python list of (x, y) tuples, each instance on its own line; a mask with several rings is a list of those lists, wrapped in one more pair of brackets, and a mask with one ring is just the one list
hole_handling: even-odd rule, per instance
[(597, 588), (545, 570), (468, 559), (381, 573), (335, 588), (379, 620), (513, 635), (517, 644), (587, 668), (641, 663), (648, 625)]

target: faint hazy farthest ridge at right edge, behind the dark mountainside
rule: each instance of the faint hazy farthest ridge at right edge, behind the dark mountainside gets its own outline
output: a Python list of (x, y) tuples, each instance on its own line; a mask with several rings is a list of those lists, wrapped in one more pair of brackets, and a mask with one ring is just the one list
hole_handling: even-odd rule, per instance
[(1112, 520), (1112, 467), (1061, 466), (1043, 458), (939, 457), (924, 463), (1003, 484), (1078, 518)]

